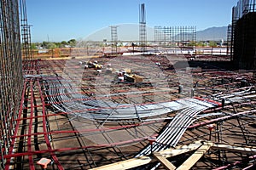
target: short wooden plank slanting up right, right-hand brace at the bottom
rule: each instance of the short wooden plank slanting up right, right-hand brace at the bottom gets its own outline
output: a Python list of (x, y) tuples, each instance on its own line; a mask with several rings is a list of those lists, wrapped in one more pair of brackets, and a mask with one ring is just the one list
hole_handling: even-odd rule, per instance
[(180, 167), (177, 167), (177, 170), (187, 170), (195, 165), (195, 163), (200, 160), (201, 156), (203, 156), (207, 150), (212, 147), (212, 142), (205, 142), (201, 145), (201, 147), (195, 151), (195, 153), (189, 157)]

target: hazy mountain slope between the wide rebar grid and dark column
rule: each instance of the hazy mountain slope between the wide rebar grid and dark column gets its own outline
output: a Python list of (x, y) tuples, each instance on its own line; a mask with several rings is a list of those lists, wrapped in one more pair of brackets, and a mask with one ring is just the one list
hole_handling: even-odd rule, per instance
[(228, 26), (210, 27), (203, 31), (196, 31), (196, 41), (218, 41), (227, 39)]

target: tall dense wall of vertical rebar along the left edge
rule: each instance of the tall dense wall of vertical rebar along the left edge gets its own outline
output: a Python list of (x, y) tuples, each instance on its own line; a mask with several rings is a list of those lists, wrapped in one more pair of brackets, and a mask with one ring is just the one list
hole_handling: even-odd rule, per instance
[(9, 152), (23, 87), (18, 0), (0, 1), (0, 129), (1, 167)]

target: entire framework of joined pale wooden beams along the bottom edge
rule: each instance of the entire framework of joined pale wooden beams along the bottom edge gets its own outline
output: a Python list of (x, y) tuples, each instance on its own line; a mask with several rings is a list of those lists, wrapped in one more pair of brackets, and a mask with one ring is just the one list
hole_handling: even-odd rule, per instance
[(132, 167), (139, 167), (153, 161), (160, 161), (166, 168), (175, 169), (176, 167), (170, 161), (166, 160), (166, 158), (196, 150), (195, 153), (189, 157), (189, 159), (184, 161), (180, 167), (177, 167), (178, 170), (189, 169), (190, 167), (193, 167), (195, 163), (201, 158), (201, 156), (203, 156), (211, 147), (213, 150), (230, 150), (245, 154), (256, 152), (256, 147), (235, 144), (213, 144), (212, 142), (205, 142), (202, 144), (201, 141), (196, 141), (193, 144), (177, 146), (175, 149), (167, 149), (155, 152), (155, 157), (140, 156), (125, 161), (108, 164), (106, 166), (96, 167), (93, 168), (93, 170), (125, 170)]

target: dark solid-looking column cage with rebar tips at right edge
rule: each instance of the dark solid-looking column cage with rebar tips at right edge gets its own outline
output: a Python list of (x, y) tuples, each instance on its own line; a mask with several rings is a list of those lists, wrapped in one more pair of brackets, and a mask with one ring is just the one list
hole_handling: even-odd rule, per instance
[(256, 33), (255, 12), (256, 0), (240, 0), (232, 8), (230, 55), (234, 65), (241, 69), (256, 67), (256, 59), (254, 59), (256, 41), (253, 39)]

